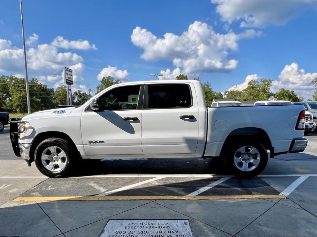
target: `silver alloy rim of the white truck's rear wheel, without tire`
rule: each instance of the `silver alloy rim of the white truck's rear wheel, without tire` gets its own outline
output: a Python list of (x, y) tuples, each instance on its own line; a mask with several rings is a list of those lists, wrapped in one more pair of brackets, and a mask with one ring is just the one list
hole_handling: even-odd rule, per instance
[(260, 164), (260, 152), (252, 146), (240, 147), (234, 155), (235, 167), (241, 171), (249, 172)]

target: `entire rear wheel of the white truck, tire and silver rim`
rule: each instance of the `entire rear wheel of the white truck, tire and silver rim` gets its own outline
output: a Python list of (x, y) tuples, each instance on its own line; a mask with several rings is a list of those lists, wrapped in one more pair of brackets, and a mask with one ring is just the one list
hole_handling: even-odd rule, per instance
[(260, 174), (268, 162), (268, 153), (261, 143), (233, 144), (225, 155), (225, 165), (237, 177), (251, 178)]

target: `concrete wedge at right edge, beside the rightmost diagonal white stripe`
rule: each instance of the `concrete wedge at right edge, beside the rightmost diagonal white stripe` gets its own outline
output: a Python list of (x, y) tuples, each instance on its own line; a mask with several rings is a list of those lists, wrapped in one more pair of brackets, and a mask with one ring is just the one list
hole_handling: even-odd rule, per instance
[(308, 177), (288, 198), (317, 216), (317, 177)]

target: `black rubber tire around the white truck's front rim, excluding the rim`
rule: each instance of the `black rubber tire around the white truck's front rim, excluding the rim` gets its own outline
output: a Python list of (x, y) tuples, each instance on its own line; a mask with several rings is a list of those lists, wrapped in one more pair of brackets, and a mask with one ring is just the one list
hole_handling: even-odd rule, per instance
[[(62, 149), (65, 154), (66, 158), (65, 159), (65, 166), (61, 171), (50, 171), (45, 168), (45, 166), (42, 163), (42, 153), (45, 149), (51, 146), (56, 146), (60, 149)], [(74, 146), (69, 143), (67, 140), (57, 138), (57, 137), (52, 137), (52, 138), (47, 138), (43, 140), (40, 144), (35, 149), (34, 153), (34, 161), (37, 169), (44, 175), (50, 177), (50, 178), (58, 178), (58, 177), (67, 177), (71, 174), (72, 168), (74, 167), (74, 161), (76, 157), (74, 157), (74, 154), (77, 154), (77, 151), (75, 150)]]

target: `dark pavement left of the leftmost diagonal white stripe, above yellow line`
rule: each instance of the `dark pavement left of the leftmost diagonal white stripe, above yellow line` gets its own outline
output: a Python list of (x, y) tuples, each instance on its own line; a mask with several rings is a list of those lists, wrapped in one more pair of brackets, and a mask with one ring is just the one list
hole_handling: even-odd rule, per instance
[(51, 178), (21, 197), (94, 196), (147, 179), (150, 178)]

